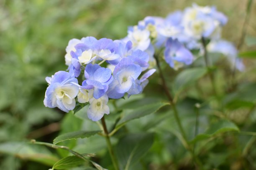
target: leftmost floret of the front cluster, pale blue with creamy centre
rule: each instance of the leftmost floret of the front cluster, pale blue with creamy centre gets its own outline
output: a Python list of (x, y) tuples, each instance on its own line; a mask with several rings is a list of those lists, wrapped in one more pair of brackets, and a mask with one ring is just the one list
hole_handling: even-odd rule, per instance
[(46, 89), (44, 105), (46, 107), (58, 107), (64, 112), (73, 110), (76, 101), (75, 97), (79, 92), (79, 87), (73, 84), (78, 83), (77, 79), (72, 77), (68, 72), (59, 71), (54, 74), (52, 78), (47, 78), (50, 82)]

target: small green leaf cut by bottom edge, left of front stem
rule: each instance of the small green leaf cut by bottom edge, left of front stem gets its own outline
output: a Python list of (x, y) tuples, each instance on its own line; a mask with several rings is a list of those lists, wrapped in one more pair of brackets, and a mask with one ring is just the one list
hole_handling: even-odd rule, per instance
[(53, 165), (52, 169), (62, 170), (67, 168), (74, 168), (78, 165), (81, 165), (82, 163), (84, 163), (84, 160), (82, 160), (81, 158), (78, 158), (77, 156), (68, 156), (56, 162)]

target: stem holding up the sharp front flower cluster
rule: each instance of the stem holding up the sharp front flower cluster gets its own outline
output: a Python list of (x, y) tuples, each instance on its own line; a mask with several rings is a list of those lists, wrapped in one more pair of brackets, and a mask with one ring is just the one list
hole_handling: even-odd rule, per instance
[(103, 126), (103, 129), (104, 129), (105, 139), (107, 141), (108, 151), (109, 151), (109, 154), (110, 154), (113, 166), (114, 166), (115, 170), (119, 170), (119, 168), (118, 168), (118, 161), (117, 161), (117, 159), (115, 157), (115, 153), (113, 151), (113, 148), (112, 148), (112, 145), (111, 145), (111, 142), (110, 142), (110, 138), (109, 138), (109, 135), (108, 135), (108, 129), (107, 129), (107, 126), (106, 126), (106, 122), (105, 122), (104, 116), (101, 118), (101, 122), (102, 122), (102, 126)]

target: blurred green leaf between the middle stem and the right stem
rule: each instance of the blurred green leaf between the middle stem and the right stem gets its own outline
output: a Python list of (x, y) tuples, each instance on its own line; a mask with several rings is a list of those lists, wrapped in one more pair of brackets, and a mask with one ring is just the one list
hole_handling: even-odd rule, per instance
[(200, 79), (207, 73), (207, 69), (197, 67), (183, 70), (174, 80), (173, 91), (179, 93), (189, 87), (196, 80)]

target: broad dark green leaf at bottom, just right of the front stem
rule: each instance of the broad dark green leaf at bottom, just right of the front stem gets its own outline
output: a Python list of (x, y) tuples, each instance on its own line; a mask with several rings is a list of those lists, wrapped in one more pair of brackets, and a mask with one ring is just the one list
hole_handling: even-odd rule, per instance
[(153, 142), (153, 133), (128, 134), (121, 138), (116, 146), (120, 168), (128, 170), (146, 154)]

